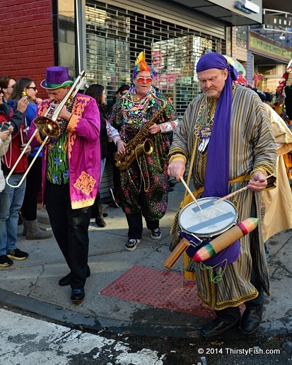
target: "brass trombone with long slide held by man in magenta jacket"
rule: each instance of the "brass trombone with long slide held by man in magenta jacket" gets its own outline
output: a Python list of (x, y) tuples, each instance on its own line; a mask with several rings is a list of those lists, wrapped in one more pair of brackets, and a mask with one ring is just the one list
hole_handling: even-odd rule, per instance
[[(62, 108), (64, 107), (64, 105), (69, 105), (70, 101), (75, 97), (76, 93), (78, 92), (79, 88), (81, 88), (81, 86), (83, 85), (85, 80), (86, 80), (86, 72), (81, 71), (81, 74), (77, 77), (76, 81), (71, 86), (70, 90), (68, 91), (68, 93), (66, 94), (66, 96), (62, 100), (62, 102), (59, 103), (57, 108), (54, 109), (53, 107), (49, 106), (45, 115), (41, 115), (40, 117), (35, 118), (35, 120), (34, 120), (35, 127), (36, 127), (35, 132), (33, 132), (33, 135), (30, 137), (30, 140), (28, 141), (25, 148), (21, 152), (21, 155), (18, 157), (18, 159), (17, 159), (16, 163), (14, 164), (13, 168), (11, 169), (10, 173), (7, 175), (6, 184), (8, 186), (14, 187), (14, 188), (20, 187), (21, 184), (23, 183), (23, 180), (26, 178), (26, 175), (28, 175), (30, 168), (33, 166), (33, 163), (35, 162), (37, 156), (40, 154), (40, 152), (42, 151), (42, 148), (47, 143), (47, 140), (49, 138), (55, 139), (55, 138), (59, 137), (59, 135), (61, 134), (61, 127), (57, 123), (58, 116), (59, 116)], [(25, 151), (28, 149), (28, 146), (30, 146), (31, 142), (35, 138), (35, 134), (37, 134), (37, 132), (44, 134), (46, 137), (45, 137), (44, 141), (42, 142), (40, 149), (37, 151), (37, 153), (35, 153), (35, 157), (33, 158), (33, 161), (31, 161), (30, 166), (28, 166), (28, 169), (25, 171), (20, 182), (18, 182), (18, 185), (11, 185), (8, 182), (9, 178), (11, 177), (14, 170), (16, 169), (18, 162), (21, 161), (21, 158), (25, 154)]]

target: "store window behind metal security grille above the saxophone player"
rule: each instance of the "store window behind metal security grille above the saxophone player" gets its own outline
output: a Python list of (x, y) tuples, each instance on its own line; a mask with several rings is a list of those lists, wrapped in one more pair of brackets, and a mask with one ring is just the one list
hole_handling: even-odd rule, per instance
[[(127, 4), (127, 2), (125, 2)], [(153, 82), (168, 95), (180, 116), (200, 92), (195, 67), (205, 52), (226, 53), (225, 40), (202, 35), (158, 18), (98, 1), (86, 1), (88, 83), (100, 83), (110, 100), (122, 83), (131, 83), (139, 52), (157, 73)]]

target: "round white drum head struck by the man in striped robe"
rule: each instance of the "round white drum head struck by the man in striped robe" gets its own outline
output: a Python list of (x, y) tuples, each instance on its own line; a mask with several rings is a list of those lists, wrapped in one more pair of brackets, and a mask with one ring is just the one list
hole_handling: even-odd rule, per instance
[(231, 228), (238, 219), (235, 206), (228, 200), (214, 204), (217, 199), (220, 198), (197, 199), (202, 210), (195, 202), (187, 204), (178, 217), (182, 231), (201, 238), (211, 238)]

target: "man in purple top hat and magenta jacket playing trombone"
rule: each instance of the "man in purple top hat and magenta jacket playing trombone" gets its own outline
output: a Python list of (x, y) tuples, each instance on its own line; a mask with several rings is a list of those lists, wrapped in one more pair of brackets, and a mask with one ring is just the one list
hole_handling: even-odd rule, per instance
[(59, 285), (71, 285), (73, 303), (83, 300), (90, 276), (88, 226), (100, 181), (99, 111), (93, 98), (77, 93), (85, 81), (78, 79), (70, 81), (65, 67), (47, 68), (40, 85), (49, 100), (37, 105), (37, 116), (28, 131), (30, 138), (38, 129), (32, 145), (39, 145), (45, 138), (42, 130), (47, 124), (55, 129), (53, 120), (57, 118), (59, 136), (49, 138), (42, 153), (42, 199), (70, 269)]

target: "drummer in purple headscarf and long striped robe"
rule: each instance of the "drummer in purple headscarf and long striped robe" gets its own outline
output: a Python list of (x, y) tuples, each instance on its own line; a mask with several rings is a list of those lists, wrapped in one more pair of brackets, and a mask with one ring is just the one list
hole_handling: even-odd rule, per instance
[[(255, 231), (214, 255), (211, 262), (190, 260), (187, 267), (197, 269), (192, 270), (197, 294), (217, 315), (201, 335), (216, 337), (238, 325), (249, 334), (262, 321), (264, 291), (269, 294), (260, 202), (262, 190), (275, 184), (274, 176), (266, 177), (276, 172), (276, 144), (262, 101), (249, 88), (233, 84), (238, 74), (225, 57), (204, 54), (197, 63), (197, 77), (202, 93), (189, 104), (173, 138), (168, 175), (179, 181), (190, 159), (197, 197), (225, 197), (248, 185), (232, 202), (238, 221), (259, 219)], [(190, 247), (187, 255), (193, 257), (198, 248)]]

